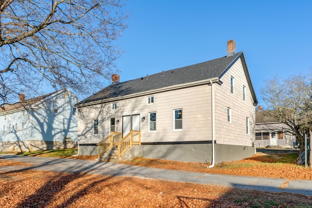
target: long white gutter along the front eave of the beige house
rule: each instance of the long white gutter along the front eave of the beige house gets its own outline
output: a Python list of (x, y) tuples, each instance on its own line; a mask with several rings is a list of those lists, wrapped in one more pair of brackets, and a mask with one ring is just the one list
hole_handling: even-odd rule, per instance
[(81, 108), (81, 107), (85, 107), (85, 106), (97, 105), (97, 104), (111, 102), (111, 101), (129, 99), (129, 98), (133, 98), (133, 97), (137, 97), (137, 96), (150, 95), (152, 93), (162, 93), (162, 92), (177, 90), (177, 89), (181, 89), (181, 88), (185, 88), (185, 87), (193, 87), (196, 85), (208, 84), (208, 83), (210, 83), (210, 81), (219, 82), (219, 78), (214, 77), (212, 79), (204, 79), (204, 80), (200, 80), (200, 81), (183, 83), (183, 84), (179, 84), (179, 85), (173, 85), (173, 86), (169, 86), (169, 87), (164, 87), (164, 88), (150, 90), (150, 91), (144, 91), (144, 92), (140, 92), (140, 93), (134, 93), (134, 94), (130, 94), (130, 95), (124, 95), (124, 96), (120, 96), (120, 97), (113, 97), (113, 98), (108, 98), (108, 99), (103, 99), (103, 100), (91, 101), (88, 103), (81, 103), (78, 105), (76, 104), (75, 107)]

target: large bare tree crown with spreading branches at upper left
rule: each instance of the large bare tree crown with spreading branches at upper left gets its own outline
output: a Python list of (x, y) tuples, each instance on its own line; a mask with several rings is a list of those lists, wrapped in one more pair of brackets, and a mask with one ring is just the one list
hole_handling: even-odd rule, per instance
[(117, 70), (122, 8), (120, 0), (0, 0), (0, 106), (41, 85), (98, 90)]

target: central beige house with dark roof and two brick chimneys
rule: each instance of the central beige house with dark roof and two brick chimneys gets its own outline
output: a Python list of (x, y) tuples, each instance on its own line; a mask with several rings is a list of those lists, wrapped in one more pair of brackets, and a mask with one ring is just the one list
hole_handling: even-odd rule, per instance
[(141, 132), (132, 156), (185, 162), (232, 161), (255, 153), (257, 99), (243, 52), (112, 84), (79, 102), (81, 155), (98, 154), (111, 132)]

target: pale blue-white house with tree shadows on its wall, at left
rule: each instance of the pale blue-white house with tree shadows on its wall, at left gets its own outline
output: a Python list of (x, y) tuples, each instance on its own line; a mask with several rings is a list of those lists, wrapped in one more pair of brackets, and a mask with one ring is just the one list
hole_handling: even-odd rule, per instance
[(78, 98), (68, 89), (24, 99), (0, 109), (0, 151), (77, 146)]

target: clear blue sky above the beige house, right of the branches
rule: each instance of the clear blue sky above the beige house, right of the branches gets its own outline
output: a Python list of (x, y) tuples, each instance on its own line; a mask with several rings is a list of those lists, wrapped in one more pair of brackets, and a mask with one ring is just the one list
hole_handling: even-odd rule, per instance
[(312, 67), (311, 0), (129, 0), (124, 11), (120, 81), (226, 56), (234, 39), (261, 105), (263, 80)]

